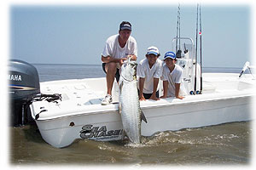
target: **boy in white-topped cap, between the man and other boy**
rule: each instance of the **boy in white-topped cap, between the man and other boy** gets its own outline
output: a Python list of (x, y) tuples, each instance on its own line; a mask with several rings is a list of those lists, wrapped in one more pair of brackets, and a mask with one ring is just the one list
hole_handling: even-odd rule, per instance
[(158, 84), (162, 76), (162, 61), (158, 59), (158, 48), (149, 47), (146, 59), (142, 59), (137, 65), (137, 77), (139, 77), (139, 99), (159, 99)]

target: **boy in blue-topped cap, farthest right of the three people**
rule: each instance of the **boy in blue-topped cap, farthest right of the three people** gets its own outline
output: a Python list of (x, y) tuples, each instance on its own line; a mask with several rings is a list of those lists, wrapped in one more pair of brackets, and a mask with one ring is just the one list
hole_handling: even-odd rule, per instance
[(180, 84), (182, 82), (183, 70), (179, 65), (176, 65), (176, 55), (171, 51), (167, 52), (164, 57), (165, 65), (163, 66), (163, 88), (164, 95), (161, 99), (167, 97), (176, 97), (177, 99), (183, 99), (180, 95)]

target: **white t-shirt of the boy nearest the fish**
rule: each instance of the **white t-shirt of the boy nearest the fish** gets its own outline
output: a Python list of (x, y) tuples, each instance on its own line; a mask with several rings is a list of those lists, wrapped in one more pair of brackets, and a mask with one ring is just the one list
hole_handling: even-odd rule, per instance
[[(149, 68), (148, 59), (142, 59), (137, 65), (137, 77), (145, 78), (143, 93), (152, 94), (154, 88), (154, 78), (162, 76), (162, 61), (156, 59), (152, 68)], [(159, 87), (157, 87), (158, 89)]]

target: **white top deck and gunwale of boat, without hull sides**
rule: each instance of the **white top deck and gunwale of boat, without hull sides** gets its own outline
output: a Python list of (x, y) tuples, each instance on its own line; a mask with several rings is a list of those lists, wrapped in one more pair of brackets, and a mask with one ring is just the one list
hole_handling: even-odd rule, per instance
[[(193, 102), (210, 101), (216, 99), (230, 99), (250, 96), (255, 91), (255, 84), (246, 78), (238, 79), (237, 74), (203, 74), (203, 94), (187, 95), (184, 99), (167, 98), (158, 101), (141, 101), (141, 107), (160, 107), (161, 105), (186, 105)], [(162, 94), (160, 81), (160, 95)], [(118, 85), (114, 82), (113, 104), (101, 105), (105, 96), (105, 78), (91, 78), (81, 80), (65, 80), (41, 83), (42, 94), (61, 94), (62, 99), (56, 102), (34, 102), (35, 113), (40, 113), (38, 120), (53, 119), (61, 116), (79, 114), (94, 114), (96, 112), (118, 111)], [(255, 94), (255, 93), (254, 93)]]

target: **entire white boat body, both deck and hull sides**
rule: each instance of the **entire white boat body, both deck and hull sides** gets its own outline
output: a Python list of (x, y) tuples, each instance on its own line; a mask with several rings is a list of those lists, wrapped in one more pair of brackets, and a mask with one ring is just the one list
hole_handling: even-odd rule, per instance
[[(169, 130), (252, 120), (251, 107), (255, 94), (253, 84), (248, 83), (247, 80), (241, 82), (236, 78), (220, 77), (221, 75), (218, 75), (214, 79), (211, 74), (205, 75), (204, 94), (188, 95), (185, 99), (141, 101), (142, 111), (148, 121), (148, 123), (142, 122), (142, 135), (151, 136), (154, 133)], [(92, 91), (99, 90), (99, 84), (104, 84), (104, 81), (105, 78), (98, 78), (41, 84), (45, 93), (55, 92), (63, 96), (61, 101), (36, 101), (30, 106), (32, 118), (37, 122), (39, 131), (48, 144), (62, 148), (72, 144), (76, 139), (111, 141), (123, 138), (118, 102), (101, 105), (105, 89), (101, 89), (102, 94), (96, 93), (97, 97), (90, 97), (90, 95), (93, 96)], [(211, 82), (211, 86), (207, 87), (207, 81)], [(96, 86), (92, 86), (92, 82), (95, 82)], [(51, 91), (53, 87), (59, 91)], [(113, 87), (113, 94), (117, 95), (118, 93), (114, 92), (116, 87), (117, 84)], [(224, 87), (228, 88), (224, 89)], [(79, 92), (84, 93), (84, 91), (90, 92), (90, 95), (79, 95)], [(113, 98), (116, 97), (113, 96)]]

